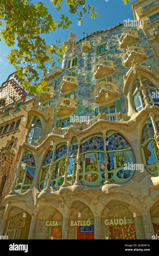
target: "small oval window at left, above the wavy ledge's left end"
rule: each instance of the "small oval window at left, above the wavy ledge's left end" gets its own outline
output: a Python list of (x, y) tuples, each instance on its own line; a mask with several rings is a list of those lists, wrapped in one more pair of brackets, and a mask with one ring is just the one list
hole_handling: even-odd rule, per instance
[(29, 134), (28, 143), (36, 142), (41, 135), (42, 125), (40, 119), (36, 117), (32, 122), (32, 128)]

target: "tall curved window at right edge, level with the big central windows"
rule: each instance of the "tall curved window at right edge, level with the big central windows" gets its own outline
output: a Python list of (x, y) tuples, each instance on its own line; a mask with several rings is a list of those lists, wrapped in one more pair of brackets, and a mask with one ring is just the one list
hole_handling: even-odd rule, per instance
[[(155, 118), (156, 119), (156, 118)], [(159, 150), (154, 140), (154, 129), (151, 121), (147, 120), (142, 132), (142, 155), (147, 171), (158, 176), (159, 173)], [(157, 130), (159, 131), (159, 120), (156, 121)]]

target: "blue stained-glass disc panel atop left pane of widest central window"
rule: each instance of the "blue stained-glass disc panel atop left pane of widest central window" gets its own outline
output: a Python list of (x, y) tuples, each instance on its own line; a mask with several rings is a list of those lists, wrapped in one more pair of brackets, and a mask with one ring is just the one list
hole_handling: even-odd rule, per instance
[(80, 153), (87, 151), (104, 151), (104, 140), (101, 137), (92, 137), (80, 146)]

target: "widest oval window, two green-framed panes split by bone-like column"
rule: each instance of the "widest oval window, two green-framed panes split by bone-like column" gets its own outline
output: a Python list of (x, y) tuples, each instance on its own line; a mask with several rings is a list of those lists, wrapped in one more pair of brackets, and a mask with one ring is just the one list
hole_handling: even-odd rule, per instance
[[(88, 186), (104, 183), (104, 140), (94, 136), (81, 144), (81, 182)], [(107, 138), (108, 177), (112, 183), (125, 183), (134, 174), (134, 155), (129, 143), (118, 133)], [(103, 173), (102, 173), (103, 172)], [(84, 175), (82, 175), (84, 174)]]

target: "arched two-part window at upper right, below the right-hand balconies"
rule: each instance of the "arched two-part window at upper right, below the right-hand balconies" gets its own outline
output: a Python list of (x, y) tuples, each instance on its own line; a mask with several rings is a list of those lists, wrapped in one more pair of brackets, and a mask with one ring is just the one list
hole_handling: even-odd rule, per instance
[[(159, 106), (159, 97), (157, 88), (148, 80), (142, 81), (146, 89), (146, 95), (149, 98), (150, 105)], [(140, 89), (139, 80), (136, 81), (133, 87), (133, 100), (136, 110), (139, 112), (145, 107), (145, 102), (143, 100), (142, 91)]]

